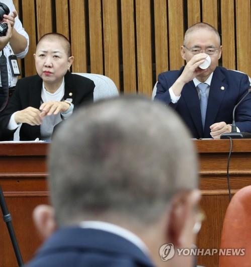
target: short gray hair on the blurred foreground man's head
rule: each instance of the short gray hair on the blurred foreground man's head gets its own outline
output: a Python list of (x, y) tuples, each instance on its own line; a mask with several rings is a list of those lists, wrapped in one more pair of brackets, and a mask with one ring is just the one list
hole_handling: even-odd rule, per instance
[(105, 213), (157, 220), (170, 198), (197, 187), (193, 142), (180, 118), (139, 96), (81, 108), (57, 130), (49, 186), (59, 226)]

